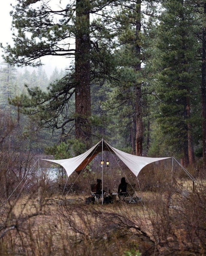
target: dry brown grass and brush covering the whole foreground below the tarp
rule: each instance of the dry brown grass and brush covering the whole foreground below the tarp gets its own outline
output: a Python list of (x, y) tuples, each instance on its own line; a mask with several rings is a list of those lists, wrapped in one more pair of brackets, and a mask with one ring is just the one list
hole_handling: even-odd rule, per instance
[[(86, 195), (24, 196), (1, 208), (1, 255), (205, 255), (206, 188), (178, 181), (143, 203), (85, 204)], [(64, 198), (65, 199), (65, 198)], [(139, 250), (139, 252), (138, 252)]]

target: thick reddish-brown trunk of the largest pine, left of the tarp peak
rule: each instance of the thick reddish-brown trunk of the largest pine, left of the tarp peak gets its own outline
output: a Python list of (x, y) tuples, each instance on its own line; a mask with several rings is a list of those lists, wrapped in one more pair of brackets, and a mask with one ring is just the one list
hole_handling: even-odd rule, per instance
[(91, 142), (89, 1), (76, 0), (75, 135)]

